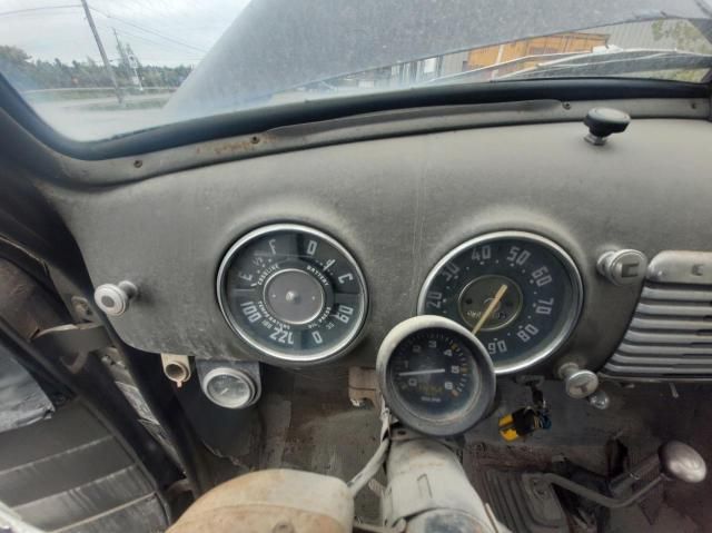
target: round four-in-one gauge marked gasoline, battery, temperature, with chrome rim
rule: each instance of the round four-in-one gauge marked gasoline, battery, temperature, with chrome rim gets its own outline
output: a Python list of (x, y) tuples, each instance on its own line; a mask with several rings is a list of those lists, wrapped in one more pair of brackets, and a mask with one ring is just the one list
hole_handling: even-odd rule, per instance
[(218, 303), (235, 333), (261, 355), (315, 363), (343, 353), (358, 335), (366, 283), (332, 237), (278, 224), (228, 250), (218, 270)]

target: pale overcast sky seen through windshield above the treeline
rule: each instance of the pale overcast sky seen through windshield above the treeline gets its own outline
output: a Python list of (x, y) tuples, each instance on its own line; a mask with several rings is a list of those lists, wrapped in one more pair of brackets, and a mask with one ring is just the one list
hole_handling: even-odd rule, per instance
[[(109, 56), (130, 45), (144, 65), (197, 65), (249, 0), (87, 0)], [(0, 45), (32, 59), (100, 61), (80, 0), (0, 0)]]

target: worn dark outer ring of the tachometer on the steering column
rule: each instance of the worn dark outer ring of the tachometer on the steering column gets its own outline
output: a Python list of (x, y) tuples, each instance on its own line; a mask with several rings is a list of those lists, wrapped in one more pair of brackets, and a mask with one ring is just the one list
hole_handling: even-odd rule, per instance
[[(457, 412), (456, 415), (453, 414), (448, 418), (434, 420), (418, 415), (397, 394), (395, 385), (389, 379), (389, 363), (400, 343), (408, 336), (427, 329), (447, 329), (466, 340), (474, 358), (474, 367), (478, 372), (478, 391), (471, 407), (466, 412)], [(435, 437), (458, 435), (477, 424), (490, 412), (497, 386), (487, 348), (466, 327), (437, 315), (415, 316), (390, 329), (378, 348), (376, 374), (385, 403), (393, 414), (408, 427)]]

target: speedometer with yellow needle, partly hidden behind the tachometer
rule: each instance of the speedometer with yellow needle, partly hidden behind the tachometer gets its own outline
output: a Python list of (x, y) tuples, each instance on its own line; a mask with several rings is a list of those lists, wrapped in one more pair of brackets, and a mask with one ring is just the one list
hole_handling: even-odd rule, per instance
[(552, 355), (576, 324), (581, 276), (556, 244), (524, 231), (476, 237), (431, 272), (419, 314), (452, 318), (487, 348), (497, 374), (527, 368)]

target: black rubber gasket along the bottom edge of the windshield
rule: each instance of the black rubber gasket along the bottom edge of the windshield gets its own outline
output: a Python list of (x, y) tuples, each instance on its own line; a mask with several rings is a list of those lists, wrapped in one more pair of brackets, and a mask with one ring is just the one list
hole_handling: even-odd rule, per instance
[(168, 124), (96, 141), (78, 141), (51, 128), (0, 76), (0, 106), (53, 150), (81, 160), (129, 157), (277, 127), (355, 115), (431, 106), (522, 100), (601, 100), (613, 98), (710, 98), (710, 86), (663, 80), (547, 79), (421, 87), (235, 111)]

